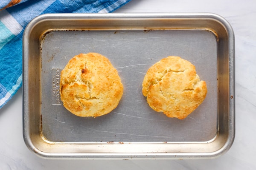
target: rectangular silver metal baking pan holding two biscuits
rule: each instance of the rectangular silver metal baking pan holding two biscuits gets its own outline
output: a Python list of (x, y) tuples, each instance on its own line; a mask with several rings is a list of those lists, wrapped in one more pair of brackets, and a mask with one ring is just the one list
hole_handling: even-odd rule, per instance
[[(61, 69), (80, 53), (97, 52), (119, 72), (116, 109), (78, 117), (60, 100)], [(148, 68), (180, 56), (207, 82), (204, 102), (186, 119), (153, 111), (142, 95)], [(23, 137), (49, 159), (209, 159), (235, 136), (234, 34), (216, 14), (44, 14), (23, 34)]]

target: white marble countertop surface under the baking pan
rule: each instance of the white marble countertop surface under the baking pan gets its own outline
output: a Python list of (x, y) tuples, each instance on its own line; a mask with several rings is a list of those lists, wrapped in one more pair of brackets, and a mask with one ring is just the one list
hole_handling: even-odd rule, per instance
[(236, 138), (223, 156), (210, 160), (45, 160), (22, 136), (22, 91), (0, 110), (0, 170), (255, 170), (256, 0), (132, 0), (116, 12), (212, 12), (225, 17), (236, 37)]

